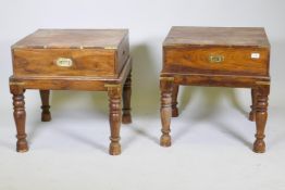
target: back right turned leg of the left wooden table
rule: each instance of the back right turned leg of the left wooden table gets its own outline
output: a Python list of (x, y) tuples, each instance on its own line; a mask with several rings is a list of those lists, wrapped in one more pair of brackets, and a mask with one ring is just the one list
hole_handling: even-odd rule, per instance
[(123, 124), (131, 124), (132, 123), (132, 115), (131, 115), (131, 96), (132, 96), (132, 75), (131, 72), (126, 78), (124, 88), (123, 88)]

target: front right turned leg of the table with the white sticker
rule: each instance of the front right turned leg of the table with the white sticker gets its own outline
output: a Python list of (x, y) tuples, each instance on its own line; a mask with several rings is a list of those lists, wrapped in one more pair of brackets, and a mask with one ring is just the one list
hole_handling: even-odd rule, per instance
[(258, 87), (257, 91), (257, 104), (256, 104), (256, 125), (257, 134), (256, 141), (253, 143), (253, 151), (257, 153), (265, 152), (264, 142), (264, 129), (268, 119), (268, 97), (270, 92), (270, 86)]

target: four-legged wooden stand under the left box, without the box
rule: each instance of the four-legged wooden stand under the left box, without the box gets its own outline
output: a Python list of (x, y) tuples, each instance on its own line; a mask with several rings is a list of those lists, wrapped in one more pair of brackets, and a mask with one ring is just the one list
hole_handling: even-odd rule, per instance
[[(50, 122), (50, 90), (86, 90), (86, 91), (107, 91), (109, 96), (110, 109), (110, 127), (111, 127), (111, 143), (110, 154), (117, 155), (121, 153), (120, 144), (120, 127), (121, 116), (124, 124), (132, 123), (131, 115), (131, 79), (132, 61), (128, 59), (119, 78), (92, 78), (92, 77), (10, 77), (10, 91), (13, 94), (14, 119), (16, 125), (16, 150), (18, 152), (28, 151), (28, 143), (25, 132), (25, 100), (24, 92), (26, 89), (37, 89), (40, 91), (41, 98), (41, 121)], [(123, 96), (122, 96), (123, 93)], [(122, 98), (123, 98), (123, 114), (122, 114)]]

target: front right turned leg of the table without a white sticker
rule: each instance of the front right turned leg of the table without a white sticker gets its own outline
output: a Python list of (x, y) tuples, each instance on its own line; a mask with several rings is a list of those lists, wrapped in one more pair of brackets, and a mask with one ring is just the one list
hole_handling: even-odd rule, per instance
[(108, 87), (108, 96), (109, 96), (109, 122), (111, 127), (111, 143), (109, 153), (111, 155), (121, 154), (121, 144), (120, 144), (120, 127), (121, 127), (121, 117), (122, 117), (122, 107), (121, 107), (121, 87), (120, 86), (111, 86)]

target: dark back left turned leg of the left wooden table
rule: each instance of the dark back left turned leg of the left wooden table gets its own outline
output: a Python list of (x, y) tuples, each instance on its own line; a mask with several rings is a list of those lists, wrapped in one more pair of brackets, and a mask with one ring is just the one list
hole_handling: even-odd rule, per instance
[(41, 99), (41, 122), (50, 122), (51, 115), (50, 115), (50, 105), (49, 105), (49, 90), (39, 90), (40, 92), (40, 99)]

